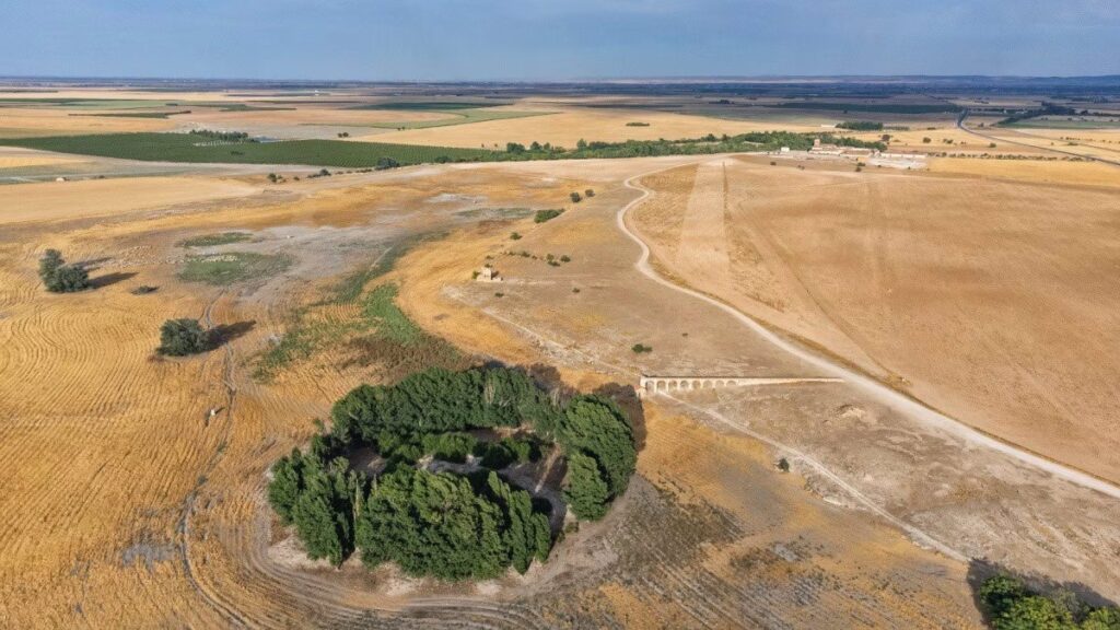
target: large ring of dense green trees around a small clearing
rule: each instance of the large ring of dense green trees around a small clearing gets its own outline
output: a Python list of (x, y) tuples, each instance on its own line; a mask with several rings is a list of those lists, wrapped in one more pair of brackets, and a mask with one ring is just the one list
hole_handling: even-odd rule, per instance
[[(501, 471), (540, 458), (554, 441), (568, 457), (563, 494), (572, 512), (598, 519), (626, 490), (637, 458), (629, 421), (613, 401), (558, 391), (494, 367), (360, 386), (335, 404), (329, 433), (273, 465), (269, 502), (310, 557), (336, 565), (358, 549), (367, 566), (394, 562), (414, 576), (524, 573), (548, 557), (552, 529)], [(482, 433), (494, 438), (473, 429), (492, 429)], [(352, 470), (344, 455), (358, 447), (384, 460), (376, 476)], [(448, 464), (421, 465), (429, 457)], [(450, 470), (432, 472), (439, 469)]]

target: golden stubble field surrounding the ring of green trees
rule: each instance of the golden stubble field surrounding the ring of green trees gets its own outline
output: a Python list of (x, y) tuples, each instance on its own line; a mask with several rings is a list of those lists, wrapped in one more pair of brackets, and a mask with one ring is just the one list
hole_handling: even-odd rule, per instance
[[(626, 318), (633, 309), (612, 298), (623, 287), (644, 296), (636, 304), (644, 300), (648, 325), (694, 311), (698, 362), (734, 365), (757, 353), (746, 340), (707, 335), (702, 306), (643, 288), (628, 276), (632, 252), (612, 231), (615, 211), (633, 197), (624, 178), (689, 161), (417, 168), (205, 203), (130, 193), (144, 180), (122, 180), (114, 182), (121, 201), (147, 201), (95, 223), (54, 214), (21, 222), (18, 239), (0, 245), (0, 387), (11, 393), (0, 402), (10, 479), (0, 494), (0, 620), (19, 628), (644, 628), (813, 626), (842, 614), (868, 626), (973, 627), (964, 563), (805, 492), (796, 474), (774, 471), (769, 448), (659, 405), (647, 409), (640, 476), (612, 517), (569, 535), (524, 577), (447, 586), (352, 564), (334, 571), (302, 559), (272, 520), (268, 466), (306, 442), (311, 420), (340, 393), (362, 380), (399, 378), (409, 360), (386, 362), (343, 333), (262, 380), (254, 376), (261, 353), (299, 326), (358, 321), (357, 304), (332, 302), (339, 282), (412, 234), (435, 235), (374, 282), (400, 284), (402, 307), (468, 356), (547, 362), (588, 388), (625, 382), (640, 367), (619, 355), (628, 340), (612, 332), (634, 324)], [(12, 189), (25, 186), (32, 185)], [(599, 193), (594, 200), (566, 202), (569, 191), (588, 187)], [(500, 211), (556, 206), (566, 214), (545, 224)], [(511, 274), (511, 299), (544, 291), (536, 295), (552, 295), (551, 305), (522, 312), (508, 302), (502, 312), (477, 304), (498, 298), (480, 294), (469, 272), (501, 254), (511, 230), (525, 233), (526, 249), (571, 253), (573, 267), (559, 277), (520, 256), (516, 265), (498, 261)], [(231, 231), (248, 240), (198, 251), (293, 262), (226, 286), (177, 277), (197, 254), (184, 242)], [(94, 289), (44, 293), (35, 259), (45, 247), (95, 261)], [(572, 294), (572, 282), (585, 291)], [(134, 295), (141, 284), (158, 290)], [(560, 295), (580, 299), (580, 315)], [(159, 324), (177, 316), (232, 332), (209, 353), (155, 359)], [(550, 326), (573, 345), (550, 346)], [(673, 337), (693, 343), (676, 332), (643, 335), (659, 348)], [(441, 352), (426, 360), (461, 360)], [(796, 369), (765, 353), (754, 361), (775, 373)]]

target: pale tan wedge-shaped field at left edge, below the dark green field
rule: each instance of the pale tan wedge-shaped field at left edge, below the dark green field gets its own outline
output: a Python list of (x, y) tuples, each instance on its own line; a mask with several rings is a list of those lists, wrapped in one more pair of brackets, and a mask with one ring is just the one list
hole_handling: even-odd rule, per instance
[(167, 205), (255, 195), (234, 179), (138, 177), (0, 186), (0, 224), (123, 214)]

